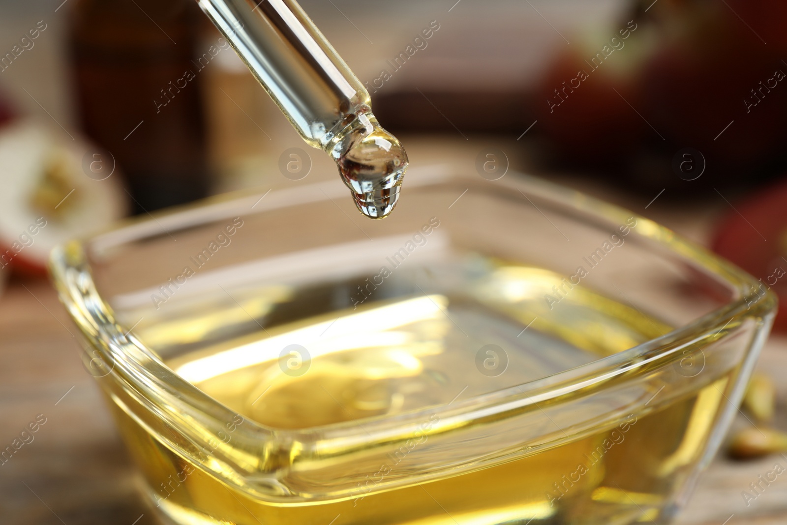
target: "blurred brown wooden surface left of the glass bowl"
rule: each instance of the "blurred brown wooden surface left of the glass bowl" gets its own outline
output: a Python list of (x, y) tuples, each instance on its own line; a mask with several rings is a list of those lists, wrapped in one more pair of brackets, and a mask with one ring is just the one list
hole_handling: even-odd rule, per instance
[(76, 333), (46, 281), (14, 284), (0, 298), (2, 449), (46, 417), (0, 465), (0, 523), (131, 525), (144, 515), (136, 525), (153, 525)]

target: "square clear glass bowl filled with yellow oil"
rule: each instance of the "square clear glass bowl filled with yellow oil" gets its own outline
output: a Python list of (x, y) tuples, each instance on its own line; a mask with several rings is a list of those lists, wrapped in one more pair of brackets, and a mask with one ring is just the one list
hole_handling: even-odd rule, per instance
[(205, 201), (54, 250), (164, 520), (666, 523), (776, 308), (641, 216), (524, 176)]

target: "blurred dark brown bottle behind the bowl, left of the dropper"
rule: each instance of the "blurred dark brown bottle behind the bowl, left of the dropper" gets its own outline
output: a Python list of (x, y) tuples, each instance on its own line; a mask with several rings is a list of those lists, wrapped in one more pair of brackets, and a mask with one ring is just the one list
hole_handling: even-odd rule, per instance
[[(115, 157), (136, 213), (207, 194), (194, 0), (79, 0), (72, 57), (83, 131)], [(185, 72), (192, 73), (188, 81)], [(185, 83), (185, 85), (184, 85)]]

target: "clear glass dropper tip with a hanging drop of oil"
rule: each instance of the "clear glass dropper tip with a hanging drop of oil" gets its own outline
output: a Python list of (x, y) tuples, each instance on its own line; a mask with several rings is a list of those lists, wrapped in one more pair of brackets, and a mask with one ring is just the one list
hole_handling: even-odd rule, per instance
[(198, 0), (310, 146), (336, 161), (365, 216), (396, 205), (408, 166), (360, 80), (294, 0)]

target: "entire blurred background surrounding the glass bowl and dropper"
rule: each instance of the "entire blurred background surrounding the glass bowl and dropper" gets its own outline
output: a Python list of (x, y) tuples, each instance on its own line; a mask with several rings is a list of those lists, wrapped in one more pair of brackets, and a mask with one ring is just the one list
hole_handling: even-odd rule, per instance
[[(787, 300), (787, 279), (773, 277), (787, 269), (784, 2), (301, 6), (411, 165), (489, 176), (478, 166), (491, 160), (496, 173), (575, 187), (709, 246)], [(0, 467), (0, 516), (18, 520), (9, 523), (144, 515), (91, 378), (63, 351), (76, 342), (46, 281), (50, 248), (124, 216), (337, 176), (223, 43), (193, 0), (0, 0), (0, 406), (21, 421), (46, 400), (52, 418), (72, 422)], [(293, 147), (309, 150), (308, 176), (281, 170)], [(781, 405), (785, 355), (777, 334), (761, 361)], [(18, 426), (0, 423), (2, 446)], [(741, 506), (760, 467), (715, 465), (682, 523), (736, 512), (784, 523), (783, 480), (756, 511)]]

